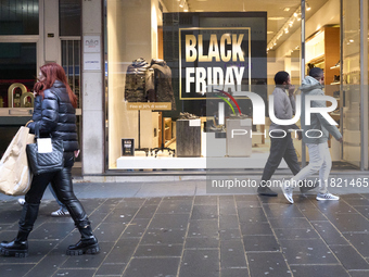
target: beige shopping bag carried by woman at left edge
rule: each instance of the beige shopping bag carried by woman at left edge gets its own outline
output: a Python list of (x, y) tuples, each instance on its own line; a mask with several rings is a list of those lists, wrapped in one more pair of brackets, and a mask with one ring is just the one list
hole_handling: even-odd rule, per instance
[(31, 173), (28, 167), (26, 146), (34, 142), (29, 128), (21, 127), (0, 161), (0, 192), (24, 196), (30, 188)]

